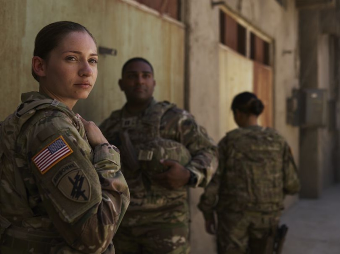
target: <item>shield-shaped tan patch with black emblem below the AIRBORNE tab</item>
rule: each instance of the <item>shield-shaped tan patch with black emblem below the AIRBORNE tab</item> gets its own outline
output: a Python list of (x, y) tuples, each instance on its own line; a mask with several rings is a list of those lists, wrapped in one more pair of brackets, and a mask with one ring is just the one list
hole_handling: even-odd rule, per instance
[(91, 185), (81, 169), (68, 171), (57, 183), (57, 188), (72, 201), (88, 202), (91, 199)]

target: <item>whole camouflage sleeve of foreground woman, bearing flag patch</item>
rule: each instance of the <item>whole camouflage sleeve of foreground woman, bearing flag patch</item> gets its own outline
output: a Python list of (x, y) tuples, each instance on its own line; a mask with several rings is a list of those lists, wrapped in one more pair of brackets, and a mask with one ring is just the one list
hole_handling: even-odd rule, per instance
[(92, 151), (60, 116), (35, 123), (26, 149), (43, 206), (65, 241), (83, 253), (104, 252), (130, 202), (118, 149)]

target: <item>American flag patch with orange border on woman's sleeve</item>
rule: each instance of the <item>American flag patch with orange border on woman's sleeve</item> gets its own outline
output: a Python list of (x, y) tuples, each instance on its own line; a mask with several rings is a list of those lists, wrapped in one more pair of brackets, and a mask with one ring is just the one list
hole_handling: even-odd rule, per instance
[(73, 153), (73, 151), (70, 146), (62, 136), (59, 136), (37, 153), (32, 158), (32, 161), (40, 170), (40, 173), (45, 174), (56, 163), (69, 156), (71, 153)]

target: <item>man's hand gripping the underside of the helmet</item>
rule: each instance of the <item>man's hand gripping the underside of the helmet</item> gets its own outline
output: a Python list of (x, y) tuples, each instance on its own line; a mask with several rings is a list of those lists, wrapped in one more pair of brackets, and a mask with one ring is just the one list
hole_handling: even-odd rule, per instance
[(163, 173), (156, 174), (153, 179), (167, 189), (174, 190), (188, 183), (190, 171), (175, 160), (160, 160), (169, 169)]

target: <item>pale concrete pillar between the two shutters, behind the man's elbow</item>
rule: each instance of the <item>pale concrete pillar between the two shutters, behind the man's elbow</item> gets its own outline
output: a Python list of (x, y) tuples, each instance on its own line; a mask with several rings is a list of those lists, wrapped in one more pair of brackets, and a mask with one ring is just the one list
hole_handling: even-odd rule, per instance
[[(218, 9), (210, 1), (186, 1), (187, 108), (217, 142), (220, 138)], [(214, 237), (204, 229), (197, 209), (202, 188), (190, 189), (191, 253), (214, 253)]]

